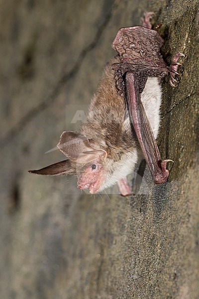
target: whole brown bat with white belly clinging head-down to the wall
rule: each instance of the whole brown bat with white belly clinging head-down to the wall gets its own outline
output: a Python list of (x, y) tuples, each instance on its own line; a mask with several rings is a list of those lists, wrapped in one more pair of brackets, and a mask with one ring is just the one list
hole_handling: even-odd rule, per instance
[[(183, 54), (166, 65), (160, 48), (163, 39), (151, 29), (146, 13), (143, 26), (119, 29), (112, 47), (118, 56), (111, 59), (102, 75), (85, 123), (80, 132), (65, 131), (58, 148), (67, 160), (31, 173), (75, 174), (79, 189), (96, 193), (118, 183), (121, 195), (130, 194), (126, 175), (143, 156), (155, 183), (167, 180), (169, 171), (156, 144), (160, 123), (160, 78), (174, 79)], [(132, 124), (132, 125), (131, 125)]]

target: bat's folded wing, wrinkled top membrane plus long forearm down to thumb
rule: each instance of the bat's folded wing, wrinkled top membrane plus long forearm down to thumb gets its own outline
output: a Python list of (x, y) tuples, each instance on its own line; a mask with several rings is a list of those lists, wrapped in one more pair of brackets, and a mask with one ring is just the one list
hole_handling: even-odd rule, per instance
[(121, 28), (112, 43), (121, 59), (120, 63), (113, 64), (118, 92), (126, 95), (135, 133), (153, 180), (157, 184), (167, 180), (168, 160), (161, 160), (140, 94), (148, 76), (162, 78), (168, 74), (167, 65), (160, 55), (162, 45), (161, 36), (155, 30), (143, 26)]

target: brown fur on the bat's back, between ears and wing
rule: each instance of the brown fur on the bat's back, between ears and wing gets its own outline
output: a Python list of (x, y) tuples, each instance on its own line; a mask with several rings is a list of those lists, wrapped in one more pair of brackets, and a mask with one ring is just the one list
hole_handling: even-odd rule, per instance
[(108, 158), (119, 160), (121, 154), (135, 149), (135, 141), (130, 123), (124, 126), (126, 107), (124, 97), (116, 89), (112, 70), (115, 62), (119, 62), (118, 56), (111, 59), (104, 69), (81, 133), (106, 150)]

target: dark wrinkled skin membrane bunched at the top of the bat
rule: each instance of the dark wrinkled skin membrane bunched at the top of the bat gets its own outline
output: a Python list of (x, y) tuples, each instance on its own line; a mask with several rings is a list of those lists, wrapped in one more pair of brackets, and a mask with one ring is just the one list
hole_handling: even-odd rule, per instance
[(125, 94), (124, 74), (128, 71), (141, 75), (139, 78), (139, 92), (142, 93), (148, 76), (164, 78), (170, 70), (164, 62), (160, 48), (164, 40), (157, 31), (143, 26), (119, 29), (112, 48), (121, 59), (114, 63), (116, 84), (119, 94)]

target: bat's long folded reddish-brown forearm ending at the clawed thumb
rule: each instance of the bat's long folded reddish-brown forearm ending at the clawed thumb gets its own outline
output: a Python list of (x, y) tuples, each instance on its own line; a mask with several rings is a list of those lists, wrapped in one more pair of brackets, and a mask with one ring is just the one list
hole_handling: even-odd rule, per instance
[(161, 160), (151, 125), (141, 102), (138, 79), (131, 72), (126, 74), (126, 97), (132, 124), (154, 183), (164, 183), (169, 175), (166, 164), (170, 160)]

